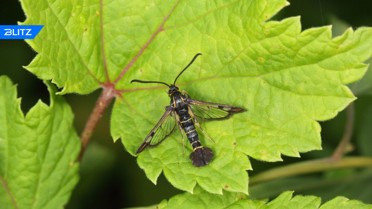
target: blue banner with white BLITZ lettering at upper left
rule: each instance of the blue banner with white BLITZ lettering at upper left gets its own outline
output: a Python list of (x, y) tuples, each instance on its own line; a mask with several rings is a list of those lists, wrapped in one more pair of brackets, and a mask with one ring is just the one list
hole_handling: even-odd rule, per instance
[(44, 25), (0, 25), (0, 39), (33, 39)]

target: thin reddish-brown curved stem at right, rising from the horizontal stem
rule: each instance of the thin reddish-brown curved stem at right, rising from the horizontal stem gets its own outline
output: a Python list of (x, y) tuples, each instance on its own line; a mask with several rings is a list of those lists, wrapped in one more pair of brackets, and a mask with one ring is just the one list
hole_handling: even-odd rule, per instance
[(353, 127), (354, 127), (354, 103), (352, 102), (346, 108), (346, 124), (344, 134), (336, 150), (330, 157), (331, 160), (334, 161), (340, 160), (340, 158), (344, 154), (346, 145), (350, 142), (350, 139), (353, 135)]

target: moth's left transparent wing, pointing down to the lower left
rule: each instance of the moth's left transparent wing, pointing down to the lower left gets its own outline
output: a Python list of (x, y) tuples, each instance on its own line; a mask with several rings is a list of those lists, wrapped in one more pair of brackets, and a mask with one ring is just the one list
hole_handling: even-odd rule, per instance
[(166, 139), (174, 130), (176, 121), (173, 116), (173, 106), (169, 106), (153, 130), (148, 134), (136, 154), (142, 152), (146, 147), (156, 147)]

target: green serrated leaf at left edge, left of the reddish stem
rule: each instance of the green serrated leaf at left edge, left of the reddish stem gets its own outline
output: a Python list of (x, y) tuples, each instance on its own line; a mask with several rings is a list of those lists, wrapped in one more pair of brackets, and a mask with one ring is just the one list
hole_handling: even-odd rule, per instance
[(50, 106), (39, 100), (24, 116), (16, 85), (0, 77), (0, 208), (62, 208), (78, 181), (73, 113), (45, 84)]

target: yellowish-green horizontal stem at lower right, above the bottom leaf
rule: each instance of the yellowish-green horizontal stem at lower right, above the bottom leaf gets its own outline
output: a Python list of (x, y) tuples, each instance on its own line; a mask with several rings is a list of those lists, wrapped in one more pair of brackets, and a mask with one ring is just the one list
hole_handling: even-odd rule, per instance
[(263, 181), (295, 176), (299, 174), (315, 173), (338, 168), (367, 166), (372, 166), (372, 157), (345, 157), (338, 161), (334, 161), (331, 158), (308, 160), (304, 162), (284, 165), (278, 168), (272, 168), (270, 170), (261, 172), (250, 178), (249, 185), (252, 186), (253, 184), (257, 184)]

